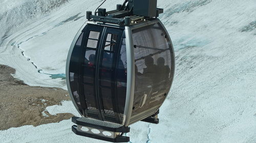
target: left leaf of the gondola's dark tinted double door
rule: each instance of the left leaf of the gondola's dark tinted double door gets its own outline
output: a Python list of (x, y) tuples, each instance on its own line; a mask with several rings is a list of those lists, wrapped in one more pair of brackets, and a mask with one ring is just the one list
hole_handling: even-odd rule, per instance
[(97, 63), (100, 44), (103, 35), (103, 26), (88, 24), (84, 29), (82, 51), (80, 54), (80, 101), (83, 102), (84, 115), (102, 120), (99, 99), (97, 96)]

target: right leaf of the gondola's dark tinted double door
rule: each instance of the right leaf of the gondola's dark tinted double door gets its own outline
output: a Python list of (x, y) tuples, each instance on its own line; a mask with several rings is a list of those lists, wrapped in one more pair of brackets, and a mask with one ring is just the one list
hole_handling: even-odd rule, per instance
[(120, 121), (116, 69), (118, 69), (122, 34), (123, 30), (120, 28), (105, 27), (98, 64), (98, 94), (102, 99), (102, 117), (105, 121), (115, 123)]

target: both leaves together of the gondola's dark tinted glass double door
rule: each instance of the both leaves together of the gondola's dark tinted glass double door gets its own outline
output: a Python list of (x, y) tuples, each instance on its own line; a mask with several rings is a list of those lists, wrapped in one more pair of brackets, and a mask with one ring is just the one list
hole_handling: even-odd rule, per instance
[(117, 86), (118, 80), (126, 83), (126, 67), (120, 66), (125, 64), (124, 58), (120, 60), (124, 56), (124, 53), (120, 54), (121, 49), (122, 52), (125, 49), (122, 41), (123, 30), (120, 28), (88, 24), (84, 29), (79, 58), (79, 95), (83, 96), (79, 100), (86, 117), (115, 123), (122, 120), (119, 106), (124, 106), (125, 101), (119, 105), (118, 100), (125, 98), (126, 85), (123, 85), (121, 95)]

